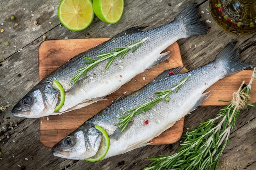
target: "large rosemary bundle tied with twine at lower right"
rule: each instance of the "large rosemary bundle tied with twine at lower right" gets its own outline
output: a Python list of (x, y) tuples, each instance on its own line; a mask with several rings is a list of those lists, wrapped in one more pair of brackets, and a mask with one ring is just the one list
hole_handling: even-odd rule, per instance
[[(233, 94), (232, 102), (220, 109), (221, 113), (218, 117), (201, 123), (182, 136), (184, 142), (180, 144), (181, 148), (177, 153), (150, 158), (149, 160), (153, 162), (144, 170), (216, 170), (240, 109), (254, 106), (247, 102), (255, 73), (256, 68), (249, 84), (241, 90), (243, 82), (239, 90)], [(214, 126), (218, 119), (220, 119), (218, 124)]]

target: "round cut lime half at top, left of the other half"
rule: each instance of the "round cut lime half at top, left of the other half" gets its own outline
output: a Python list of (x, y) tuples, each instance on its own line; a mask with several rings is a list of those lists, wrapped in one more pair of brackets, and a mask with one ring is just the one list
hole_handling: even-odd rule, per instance
[(86, 29), (93, 18), (92, 0), (62, 0), (58, 6), (58, 19), (72, 31)]

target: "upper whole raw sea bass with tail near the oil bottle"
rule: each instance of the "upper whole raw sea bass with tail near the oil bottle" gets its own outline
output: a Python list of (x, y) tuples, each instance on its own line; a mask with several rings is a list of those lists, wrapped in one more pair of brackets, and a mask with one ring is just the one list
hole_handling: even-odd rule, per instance
[[(169, 24), (149, 31), (129, 29), (76, 55), (32, 88), (14, 106), (12, 114), (29, 118), (57, 115), (103, 99), (137, 74), (168, 58), (168, 53), (160, 53), (177, 40), (207, 33), (206, 24), (202, 21), (198, 22), (201, 18), (198, 8), (197, 4), (191, 4)], [(72, 77), (79, 73), (78, 69), (86, 66), (84, 62), (88, 60), (83, 56), (98, 60), (97, 55), (101, 52), (115, 52), (115, 47), (126, 47), (145, 38), (148, 39), (136, 51), (132, 52), (131, 49), (122, 60), (120, 57), (116, 58), (108, 69), (105, 69), (108, 62), (105, 60), (88, 71), (85, 77), (81, 75), (78, 82), (71, 81)], [(63, 86), (65, 91), (64, 105), (55, 113), (54, 108), (58, 102), (59, 91), (51, 85), (54, 79)]]

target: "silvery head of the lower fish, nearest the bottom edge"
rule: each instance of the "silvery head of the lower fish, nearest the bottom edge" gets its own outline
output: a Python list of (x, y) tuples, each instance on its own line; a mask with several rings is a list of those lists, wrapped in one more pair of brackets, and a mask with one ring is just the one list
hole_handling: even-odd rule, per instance
[(101, 132), (95, 126), (83, 125), (59, 141), (52, 148), (52, 154), (65, 159), (90, 158), (96, 155), (101, 138)]

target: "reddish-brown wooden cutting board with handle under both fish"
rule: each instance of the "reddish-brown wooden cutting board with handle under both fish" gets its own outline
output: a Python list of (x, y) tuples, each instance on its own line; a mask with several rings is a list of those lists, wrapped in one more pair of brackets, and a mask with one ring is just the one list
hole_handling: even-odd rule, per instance
[[(54, 71), (56, 68), (67, 62), (78, 53), (90, 49), (109, 38), (101, 39), (72, 39), (72, 40), (46, 40), (42, 42), (38, 49), (39, 60), (39, 81)], [(58, 141), (66, 137), (70, 132), (78, 128), (83, 122), (97, 114), (100, 110), (108, 106), (113, 100), (119, 97), (123, 92), (129, 94), (150, 82), (154, 77), (162, 73), (168, 68), (183, 66), (180, 56), (180, 49), (175, 42), (165, 51), (171, 52), (171, 57), (161, 64), (148, 69), (134, 77), (130, 82), (124, 84), (115, 93), (108, 95), (109, 100), (91, 104), (81, 109), (72, 110), (62, 115), (54, 115), (40, 118), (40, 141), (46, 147), (54, 146)], [(203, 57), (203, 56), (202, 56)], [(186, 68), (183, 72), (186, 72)], [(224, 106), (226, 102), (219, 102), (219, 99), (230, 100), (232, 93), (237, 91), (240, 84), (245, 80), (248, 83), (252, 75), (252, 71), (245, 70), (235, 75), (225, 77), (207, 91), (211, 91), (210, 97), (201, 104), (201, 106)], [(253, 86), (256, 86), (253, 84)], [(256, 87), (252, 88), (256, 90)], [(256, 92), (252, 91), (252, 103), (256, 102)], [(161, 135), (153, 139), (154, 145), (172, 144), (180, 139), (183, 131), (184, 118), (176, 122), (174, 126), (163, 132)]]

